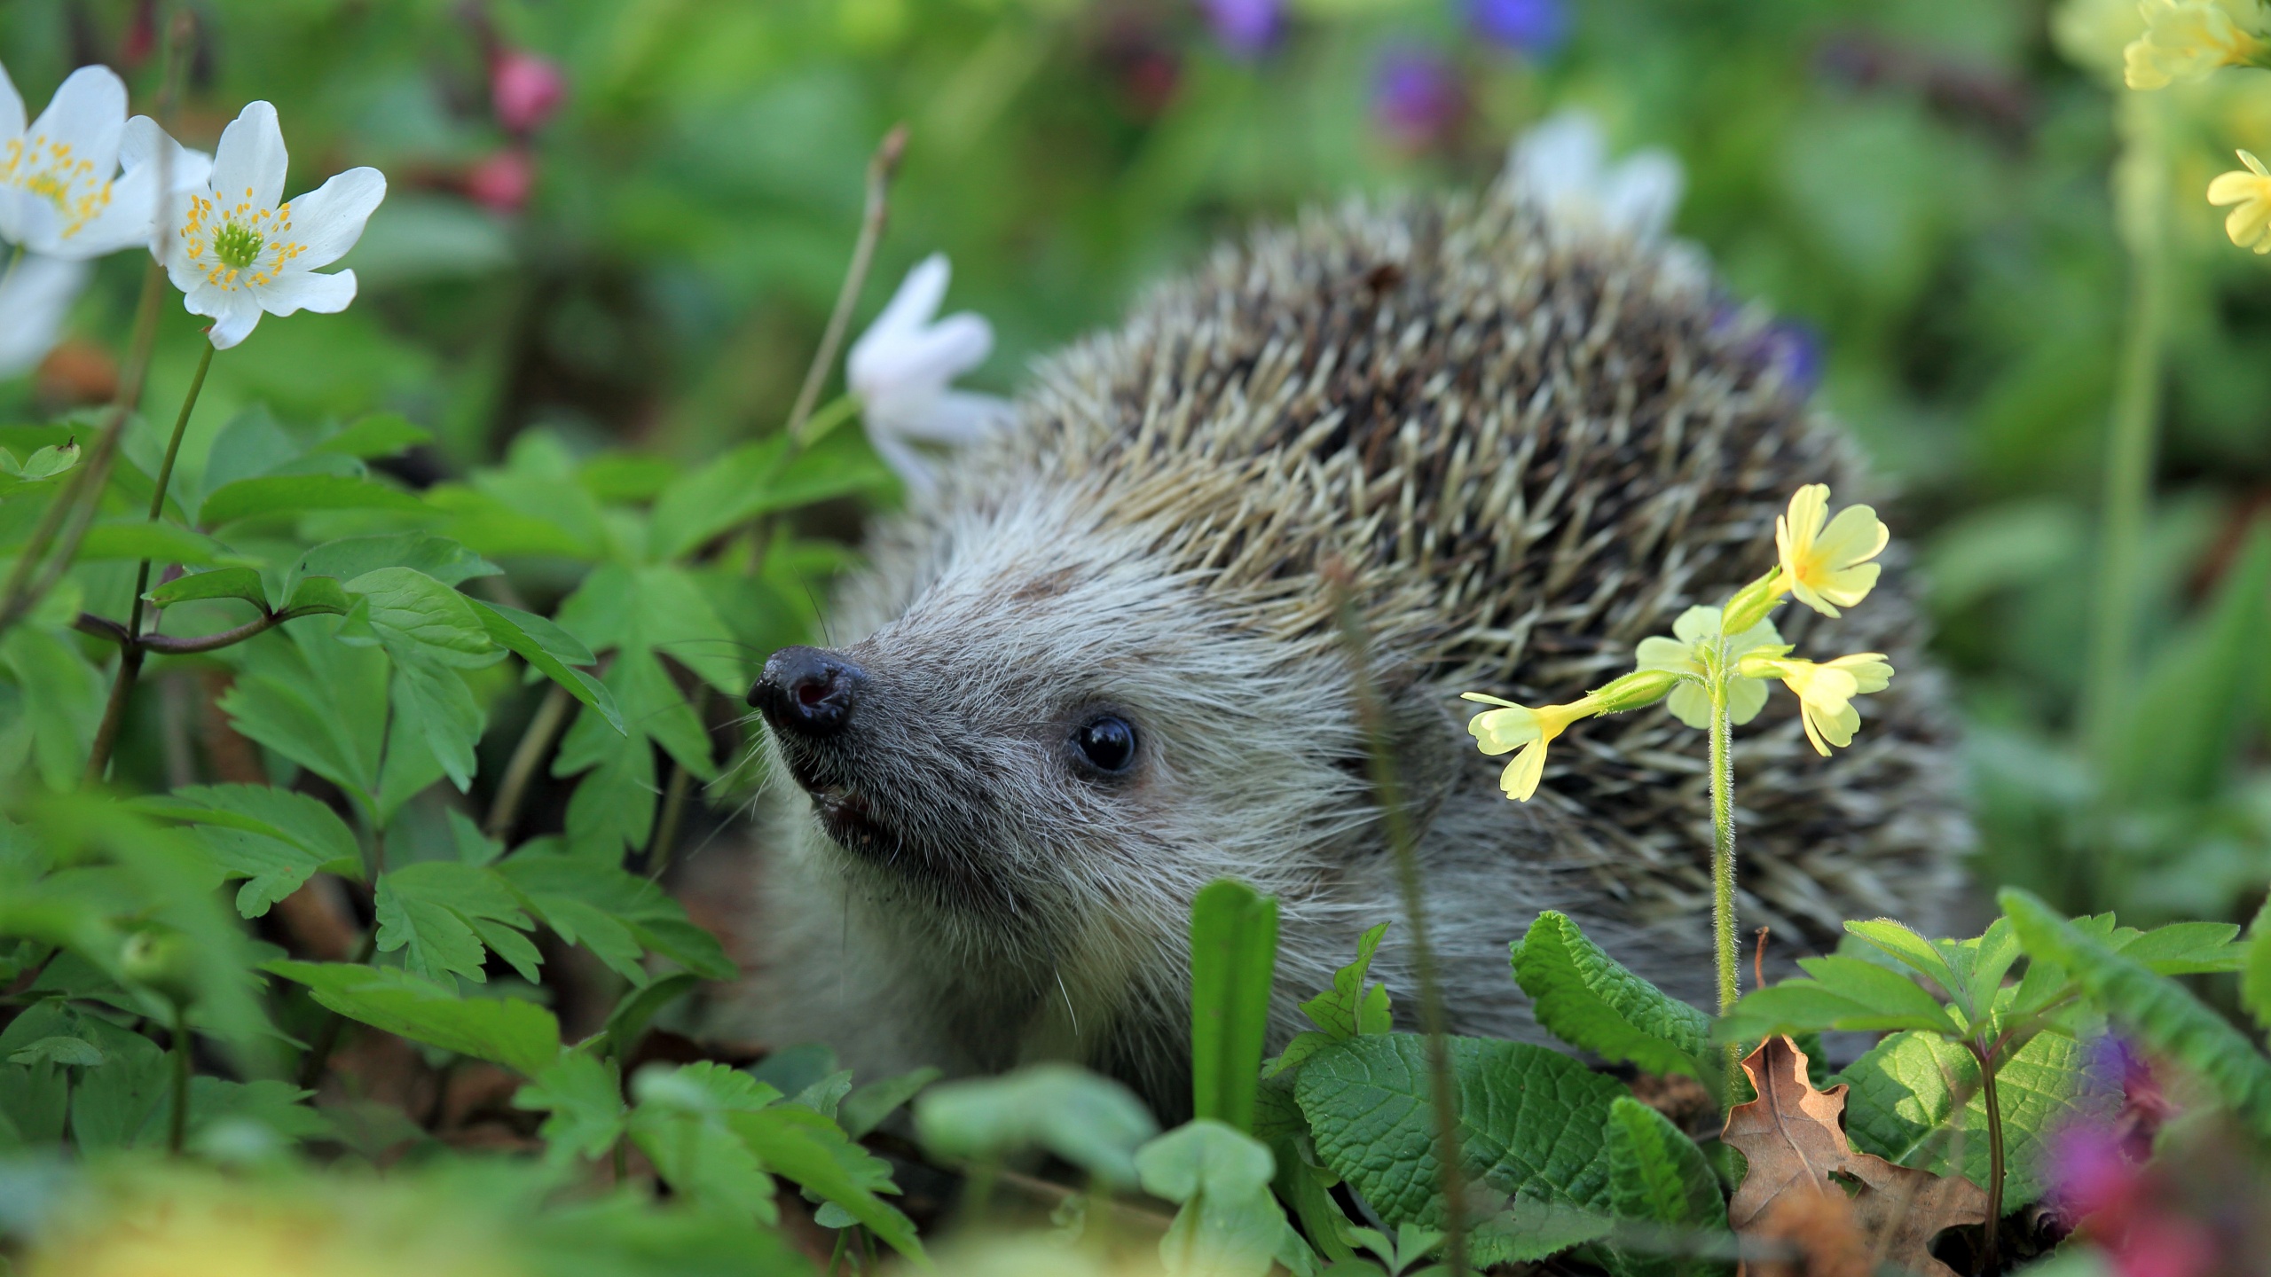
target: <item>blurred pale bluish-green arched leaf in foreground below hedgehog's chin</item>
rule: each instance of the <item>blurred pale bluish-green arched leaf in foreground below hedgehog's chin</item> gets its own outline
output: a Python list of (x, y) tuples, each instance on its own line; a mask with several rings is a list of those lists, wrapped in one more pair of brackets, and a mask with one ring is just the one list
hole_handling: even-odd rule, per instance
[(1033, 1063), (931, 1086), (915, 1097), (915, 1132), (938, 1157), (997, 1159), (1045, 1147), (1104, 1184), (1131, 1188), (1136, 1145), (1158, 1134), (1158, 1122), (1108, 1077)]

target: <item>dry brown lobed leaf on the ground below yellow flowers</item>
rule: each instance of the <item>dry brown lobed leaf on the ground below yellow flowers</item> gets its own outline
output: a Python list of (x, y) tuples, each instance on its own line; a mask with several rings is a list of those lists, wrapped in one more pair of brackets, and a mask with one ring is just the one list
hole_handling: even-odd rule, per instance
[(1853, 1152), (1844, 1138), (1844, 1086), (1815, 1091), (1805, 1077), (1805, 1052), (1787, 1036), (1771, 1036), (1742, 1061), (1758, 1100), (1726, 1116), (1719, 1138), (1751, 1161), (1742, 1188), (1726, 1207), (1726, 1222), (1744, 1236), (1762, 1236), (1762, 1225), (1785, 1193), (1851, 1193), (1853, 1222), (1869, 1238), (1880, 1263), (1896, 1263), (1926, 1277), (1958, 1277), (1926, 1250), (1944, 1229), (1987, 1222), (1987, 1193), (1962, 1175), (1933, 1175), (1894, 1166), (1869, 1152)]

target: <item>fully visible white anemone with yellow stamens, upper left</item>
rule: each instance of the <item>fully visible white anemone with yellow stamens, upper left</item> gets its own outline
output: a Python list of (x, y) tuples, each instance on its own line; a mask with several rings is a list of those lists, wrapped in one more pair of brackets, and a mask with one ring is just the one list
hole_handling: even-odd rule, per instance
[(216, 350), (252, 334), (261, 314), (338, 314), (354, 300), (354, 270), (318, 275), (363, 236), (386, 198), (377, 168), (350, 168), (284, 200), (284, 130), (268, 102), (245, 107), (213, 150), (209, 184), (170, 200), (159, 259), (188, 314), (213, 320)]

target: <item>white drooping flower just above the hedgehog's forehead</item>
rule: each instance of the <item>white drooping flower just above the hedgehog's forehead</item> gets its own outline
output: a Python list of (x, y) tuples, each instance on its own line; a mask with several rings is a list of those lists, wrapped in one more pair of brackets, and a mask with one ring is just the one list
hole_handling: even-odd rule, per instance
[(992, 352), (992, 325), (970, 311), (936, 318), (949, 275), (947, 254), (924, 257), (845, 359), (868, 441), (917, 493), (936, 479), (911, 441), (970, 443), (1008, 418), (1008, 400), (952, 386)]

